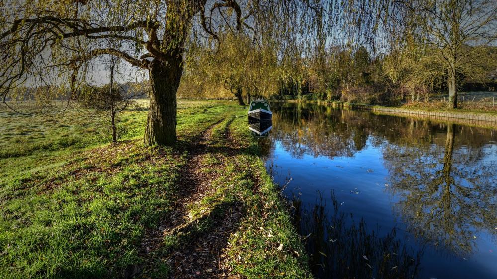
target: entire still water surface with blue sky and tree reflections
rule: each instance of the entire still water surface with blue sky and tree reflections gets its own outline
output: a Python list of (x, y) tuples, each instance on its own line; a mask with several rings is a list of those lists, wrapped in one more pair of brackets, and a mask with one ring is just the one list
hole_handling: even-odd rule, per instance
[(259, 144), (320, 278), (497, 278), (497, 131), (272, 104)]

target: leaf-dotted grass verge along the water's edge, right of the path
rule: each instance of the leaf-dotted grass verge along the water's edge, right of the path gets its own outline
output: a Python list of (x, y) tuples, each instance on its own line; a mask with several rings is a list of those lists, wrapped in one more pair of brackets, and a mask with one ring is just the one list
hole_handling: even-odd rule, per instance
[[(288, 205), (257, 157), (256, 139), (250, 136), (246, 119), (235, 119), (232, 135), (245, 153), (238, 154), (227, 168), (237, 183), (232, 191), (239, 193), (247, 208), (247, 218), (229, 242), (229, 255), (235, 273), (248, 278), (307, 278), (310, 277), (307, 257), (297, 235)], [(254, 185), (258, 180), (258, 185)], [(257, 186), (258, 188), (254, 187)], [(254, 192), (256, 193), (254, 195)], [(278, 249), (283, 245), (281, 250)]]

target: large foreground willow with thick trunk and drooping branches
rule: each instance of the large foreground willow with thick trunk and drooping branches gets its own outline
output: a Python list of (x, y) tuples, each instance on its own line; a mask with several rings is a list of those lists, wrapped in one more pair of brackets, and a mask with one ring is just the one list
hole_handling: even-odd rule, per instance
[[(120, 57), (148, 72), (150, 109), (145, 145), (176, 140), (176, 92), (189, 42), (215, 45), (220, 32), (253, 43), (290, 33), (311, 46), (315, 26), (340, 6), (334, 0), (9, 0), (0, 3), (0, 97), (42, 84), (76, 92), (98, 56)], [(335, 17), (336, 18), (336, 17)], [(273, 30), (269, 32), (269, 30)], [(275, 31), (277, 30), (277, 31)], [(320, 32), (325, 32), (320, 28)], [(217, 41), (217, 43), (216, 43)], [(21, 93), (24, 94), (24, 93)]]

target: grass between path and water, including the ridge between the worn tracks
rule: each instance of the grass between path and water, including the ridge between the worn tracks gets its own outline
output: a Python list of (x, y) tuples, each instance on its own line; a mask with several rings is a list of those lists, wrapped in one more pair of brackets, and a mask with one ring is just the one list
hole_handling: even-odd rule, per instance
[[(238, 146), (226, 145), (229, 130)], [(219, 157), (228, 156), (218, 153), (213, 159), (209, 153), (205, 162), (223, 174), (212, 187), (216, 190), (205, 196), (198, 204), (189, 209), (192, 220), (202, 220), (207, 227), (215, 223), (215, 216), (224, 207), (239, 204), (244, 209), (239, 229), (232, 233), (228, 255), (235, 274), (247, 278), (308, 278), (310, 277), (307, 257), (301, 239), (297, 235), (290, 216), (288, 205), (272, 183), (264, 164), (257, 156), (257, 141), (247, 128), (247, 119), (227, 118), (212, 132), (212, 147), (239, 148), (238, 152), (224, 165), (218, 165)], [(212, 166), (214, 165), (214, 166)], [(204, 218), (203, 217), (208, 217)], [(214, 216), (214, 217), (213, 217)], [(183, 242), (190, 241), (187, 235)], [(278, 247), (283, 245), (283, 249)]]

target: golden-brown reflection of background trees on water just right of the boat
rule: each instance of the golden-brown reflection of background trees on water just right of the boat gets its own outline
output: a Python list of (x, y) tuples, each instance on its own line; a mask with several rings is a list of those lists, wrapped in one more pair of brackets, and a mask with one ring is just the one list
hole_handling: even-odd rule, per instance
[[(274, 106), (273, 106), (274, 107)], [(314, 104), (283, 104), (277, 106), (273, 115), (273, 130), (270, 139), (263, 142), (272, 146), (274, 139), (292, 156), (301, 158), (304, 154), (313, 156), (352, 156), (362, 150), (368, 138), (363, 127), (365, 115), (350, 114)], [(342, 121), (354, 118), (354, 122)]]

